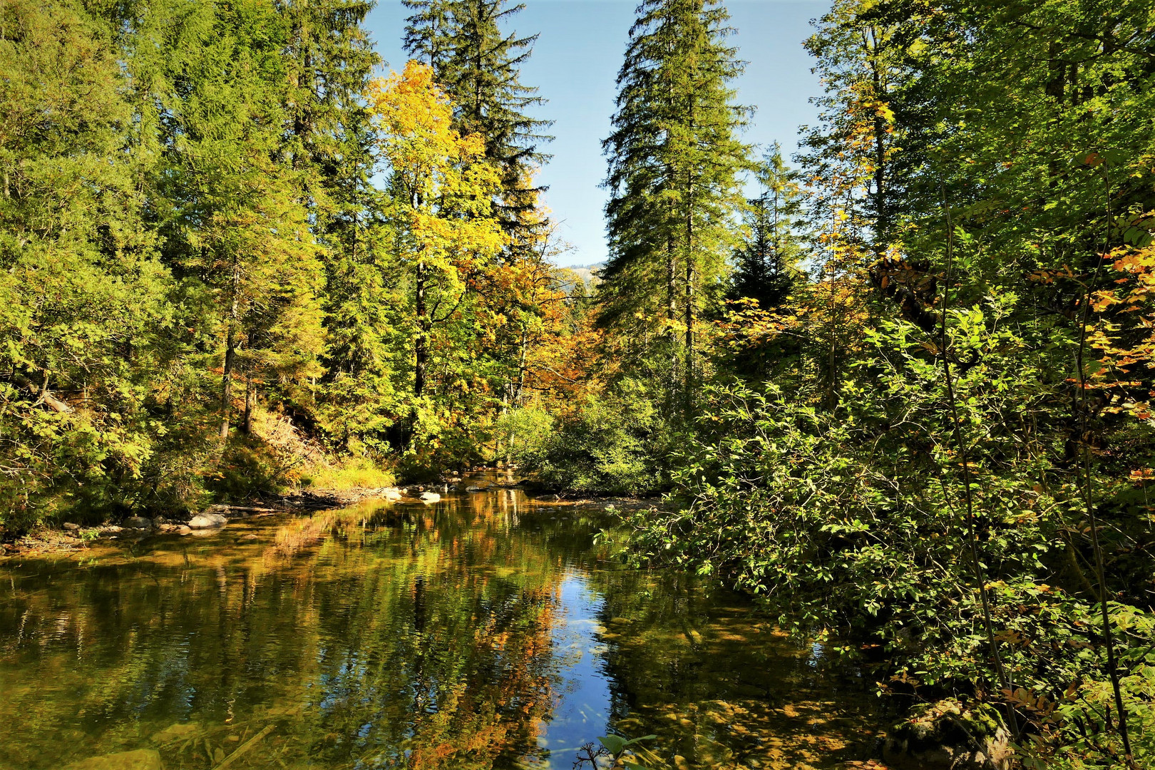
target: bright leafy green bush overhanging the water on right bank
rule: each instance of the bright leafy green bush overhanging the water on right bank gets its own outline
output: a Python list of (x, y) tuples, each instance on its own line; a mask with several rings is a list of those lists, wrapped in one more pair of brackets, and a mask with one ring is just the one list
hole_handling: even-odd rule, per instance
[[(673, 479), (671, 502), (681, 504), (635, 514), (631, 523), (643, 555), (753, 592), (796, 633), (879, 645), (881, 689), (912, 688), (923, 698), (999, 691), (983, 630), (983, 581), (1012, 682), (1007, 697), (1033, 698), (1024, 718), (1041, 750), (1061, 754), (1067, 749), (1053, 747), (1071, 746), (1079, 724), (1093, 742), (1104, 740), (1102, 718), (1097, 727), (1088, 720), (1105, 713), (1111, 690), (1105, 644), (1093, 630), (1094, 595), (1073, 563), (1078, 498), (1061, 469), (1065, 447), (1036, 433), (1064, 404), (1043, 386), (1049, 373), (1024, 360), (1028, 341), (1003, 322), (1014, 306), (1013, 297), (992, 299), (953, 313), (949, 328), (960, 358), (977, 361), (955, 383), (974, 519), (961, 496), (941, 369), (915, 327), (880, 323), (834, 410), (818, 405), (814, 386), (708, 391), (702, 432)], [(1149, 719), (1143, 672), (1153, 622), (1134, 606), (1112, 612), (1124, 657), (1138, 656), (1124, 676), (1137, 728)], [(1068, 719), (1060, 724), (1056, 709)]]

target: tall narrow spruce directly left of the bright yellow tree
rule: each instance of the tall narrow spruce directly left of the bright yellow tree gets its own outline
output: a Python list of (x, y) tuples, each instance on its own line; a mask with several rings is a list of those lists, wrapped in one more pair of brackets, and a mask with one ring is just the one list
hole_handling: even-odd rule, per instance
[[(290, 406), (345, 450), (381, 427), (392, 387), (387, 291), (390, 270), (374, 247), (379, 193), (371, 178), (374, 129), (365, 94), (380, 58), (363, 22), (365, 0), (293, 0), (289, 23), (285, 147), (325, 266), (325, 374), (316, 405)], [(307, 401), (307, 399), (306, 399)], [(315, 412), (315, 413), (314, 413)]]

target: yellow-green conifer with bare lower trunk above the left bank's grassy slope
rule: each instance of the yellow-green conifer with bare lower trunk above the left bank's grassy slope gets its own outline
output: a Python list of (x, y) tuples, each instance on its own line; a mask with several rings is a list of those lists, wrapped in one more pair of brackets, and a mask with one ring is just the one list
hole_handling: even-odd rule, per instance
[(213, 298), (200, 347), (221, 365), (222, 439), (238, 381), (248, 429), (262, 381), (284, 390), (320, 373), (321, 275), (301, 194), (307, 174), (280, 151), (285, 21), (259, 2), (217, 9), (173, 74), (188, 87), (173, 109), (179, 124), (163, 192), (174, 214), (162, 232), (188, 290)]

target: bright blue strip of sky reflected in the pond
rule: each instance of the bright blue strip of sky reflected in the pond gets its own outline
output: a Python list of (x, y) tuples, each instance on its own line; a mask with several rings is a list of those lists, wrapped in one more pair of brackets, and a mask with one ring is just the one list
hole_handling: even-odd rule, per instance
[(573, 767), (582, 743), (605, 734), (610, 717), (610, 680), (598, 621), (604, 601), (586, 576), (567, 569), (558, 585), (558, 614), (552, 643), (560, 658), (558, 703), (538, 743), (550, 750), (545, 767)]

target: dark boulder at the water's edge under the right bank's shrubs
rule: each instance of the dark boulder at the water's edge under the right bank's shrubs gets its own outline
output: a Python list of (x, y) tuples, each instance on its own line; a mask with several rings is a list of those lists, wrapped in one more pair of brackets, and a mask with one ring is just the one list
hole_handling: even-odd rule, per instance
[(947, 698), (917, 705), (882, 745), (894, 770), (1006, 770), (1011, 734), (994, 708)]

